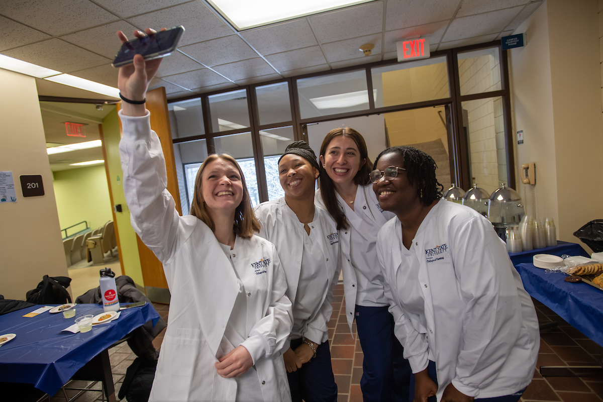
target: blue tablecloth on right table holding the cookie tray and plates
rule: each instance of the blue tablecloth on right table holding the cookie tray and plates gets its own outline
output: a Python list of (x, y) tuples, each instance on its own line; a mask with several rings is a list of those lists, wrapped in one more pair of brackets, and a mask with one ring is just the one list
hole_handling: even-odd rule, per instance
[(587, 283), (566, 282), (566, 274), (536, 268), (531, 263), (515, 268), (532, 297), (603, 346), (603, 291)]

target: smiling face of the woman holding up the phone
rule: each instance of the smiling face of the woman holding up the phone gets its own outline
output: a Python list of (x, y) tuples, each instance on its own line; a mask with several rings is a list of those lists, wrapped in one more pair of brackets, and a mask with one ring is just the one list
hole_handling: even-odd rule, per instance
[(235, 213), (243, 199), (243, 183), (236, 166), (216, 159), (201, 174), (201, 195), (209, 215)]

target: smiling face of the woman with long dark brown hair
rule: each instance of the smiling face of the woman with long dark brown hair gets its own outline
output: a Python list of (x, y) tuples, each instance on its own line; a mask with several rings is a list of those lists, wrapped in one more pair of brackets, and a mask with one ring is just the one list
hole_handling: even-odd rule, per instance
[(350, 137), (337, 136), (326, 146), (324, 155), (320, 155), (320, 163), (335, 186), (352, 186), (358, 170), (366, 159), (361, 160), (358, 145)]

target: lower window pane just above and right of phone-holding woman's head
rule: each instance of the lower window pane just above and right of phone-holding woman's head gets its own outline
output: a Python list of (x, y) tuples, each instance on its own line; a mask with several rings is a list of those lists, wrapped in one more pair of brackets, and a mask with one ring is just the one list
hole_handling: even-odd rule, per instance
[(245, 183), (251, 198), (251, 205), (260, 203), (259, 190), (257, 189), (256, 162), (253, 159), (253, 144), (251, 133), (232, 134), (230, 136), (215, 137), (213, 139), (216, 154), (229, 154), (241, 166)]

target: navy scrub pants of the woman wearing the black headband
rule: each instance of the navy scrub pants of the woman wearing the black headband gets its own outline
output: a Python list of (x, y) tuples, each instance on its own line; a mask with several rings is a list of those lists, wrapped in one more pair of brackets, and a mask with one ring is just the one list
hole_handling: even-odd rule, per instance
[[(291, 349), (295, 350), (303, 339), (293, 339)], [(297, 371), (288, 372), (289, 388), (292, 402), (335, 402), (337, 385), (331, 366), (329, 341), (318, 345), (316, 357), (301, 365)]]

